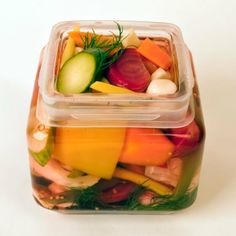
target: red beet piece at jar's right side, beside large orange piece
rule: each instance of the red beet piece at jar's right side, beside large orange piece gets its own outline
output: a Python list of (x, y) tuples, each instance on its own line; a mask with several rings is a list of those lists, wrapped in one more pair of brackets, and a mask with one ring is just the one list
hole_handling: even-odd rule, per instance
[(175, 155), (182, 156), (189, 153), (198, 144), (200, 139), (200, 129), (195, 121), (189, 125), (171, 129), (171, 140), (175, 144)]

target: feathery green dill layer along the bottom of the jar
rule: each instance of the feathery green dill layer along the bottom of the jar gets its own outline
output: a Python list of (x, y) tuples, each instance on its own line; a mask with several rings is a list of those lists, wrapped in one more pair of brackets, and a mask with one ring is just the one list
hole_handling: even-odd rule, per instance
[(73, 205), (68, 209), (77, 210), (130, 210), (130, 211), (175, 211), (184, 209), (190, 206), (197, 195), (197, 188), (193, 191), (185, 193), (181, 197), (175, 196), (154, 196), (149, 205), (140, 203), (140, 196), (147, 191), (143, 185), (138, 185), (134, 191), (129, 195), (126, 201), (119, 204), (108, 204), (102, 202), (100, 199), (100, 191), (97, 185), (91, 186), (87, 189), (71, 189), (64, 193), (62, 199), (44, 199), (52, 204), (60, 204), (66, 202), (73, 202)]

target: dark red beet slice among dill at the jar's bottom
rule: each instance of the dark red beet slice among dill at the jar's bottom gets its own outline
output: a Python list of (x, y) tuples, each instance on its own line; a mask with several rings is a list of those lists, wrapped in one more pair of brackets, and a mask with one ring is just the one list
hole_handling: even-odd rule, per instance
[(118, 183), (115, 186), (106, 189), (101, 193), (100, 199), (105, 203), (115, 203), (128, 199), (134, 191), (136, 184)]

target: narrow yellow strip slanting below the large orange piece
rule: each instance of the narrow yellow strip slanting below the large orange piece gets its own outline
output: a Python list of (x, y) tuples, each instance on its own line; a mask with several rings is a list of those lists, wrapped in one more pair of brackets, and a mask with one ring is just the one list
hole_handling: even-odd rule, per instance
[(113, 177), (129, 180), (133, 183), (136, 183), (138, 185), (142, 185), (146, 188), (149, 188), (160, 195), (170, 195), (173, 193), (170, 188), (166, 187), (163, 184), (153, 181), (153, 180), (147, 178), (146, 176), (136, 174), (132, 171), (128, 171), (128, 170), (125, 170), (122, 168), (116, 168), (116, 170), (113, 174)]

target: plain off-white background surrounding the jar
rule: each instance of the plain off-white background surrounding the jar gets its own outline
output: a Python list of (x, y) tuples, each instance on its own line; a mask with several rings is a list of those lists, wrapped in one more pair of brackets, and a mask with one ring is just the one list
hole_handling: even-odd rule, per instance
[[(207, 128), (199, 195), (173, 215), (62, 215), (31, 197), (25, 127), (40, 49), (72, 19), (177, 24), (192, 50)], [(236, 235), (236, 1), (0, 0), (0, 235)]]

